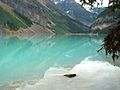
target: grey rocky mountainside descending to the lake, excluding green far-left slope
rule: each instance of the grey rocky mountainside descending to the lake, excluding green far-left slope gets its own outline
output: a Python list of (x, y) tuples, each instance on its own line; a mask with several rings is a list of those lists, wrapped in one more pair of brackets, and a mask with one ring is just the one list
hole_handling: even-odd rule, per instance
[(23, 19), (32, 22), (24, 28), (37, 26), (36, 28), (29, 28), (32, 32), (50, 34), (89, 32), (87, 26), (70, 18), (49, 0), (1, 0), (1, 3), (11, 8), (18, 21), (23, 22), (21, 21)]

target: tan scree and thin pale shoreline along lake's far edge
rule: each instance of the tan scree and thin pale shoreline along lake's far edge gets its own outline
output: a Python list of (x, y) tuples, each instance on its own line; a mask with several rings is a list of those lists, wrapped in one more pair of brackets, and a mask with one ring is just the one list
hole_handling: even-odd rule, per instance
[[(99, 36), (99, 35), (107, 35), (107, 34), (98, 34), (98, 33), (65, 33), (65, 34), (56, 34), (54, 32), (52, 32), (52, 30), (48, 29), (48, 28), (41, 28), (39, 25), (32, 25), (31, 27), (28, 28), (20, 28), (17, 31), (14, 30), (10, 30), (10, 29), (6, 29), (3, 28), (2, 33), (6, 36), (44, 36), (44, 35), (94, 35), (94, 36)], [(1, 33), (1, 35), (2, 35)]]

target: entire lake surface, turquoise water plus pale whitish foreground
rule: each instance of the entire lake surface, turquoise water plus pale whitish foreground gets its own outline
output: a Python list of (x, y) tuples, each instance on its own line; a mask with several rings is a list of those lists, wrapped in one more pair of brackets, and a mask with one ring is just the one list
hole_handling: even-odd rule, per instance
[[(110, 64), (104, 51), (97, 52), (103, 38), (1, 37), (0, 90), (7, 85), (11, 90), (119, 90), (119, 67)], [(77, 77), (68, 79), (65, 73)]]

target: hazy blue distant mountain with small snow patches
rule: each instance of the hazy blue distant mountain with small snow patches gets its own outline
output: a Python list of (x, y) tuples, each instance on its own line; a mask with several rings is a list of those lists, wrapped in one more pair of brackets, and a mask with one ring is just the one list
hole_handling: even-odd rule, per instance
[(60, 10), (73, 19), (89, 26), (97, 17), (96, 13), (91, 13), (76, 3), (75, 0), (51, 0)]

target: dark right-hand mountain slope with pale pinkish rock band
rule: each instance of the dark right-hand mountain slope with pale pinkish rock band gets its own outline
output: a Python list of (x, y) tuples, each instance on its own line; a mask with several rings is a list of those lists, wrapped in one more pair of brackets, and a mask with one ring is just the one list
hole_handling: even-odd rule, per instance
[(106, 8), (101, 12), (97, 19), (92, 23), (91, 29), (93, 33), (109, 33), (110, 30), (116, 26), (118, 22), (118, 17), (120, 16), (120, 10), (111, 11), (109, 8)]

